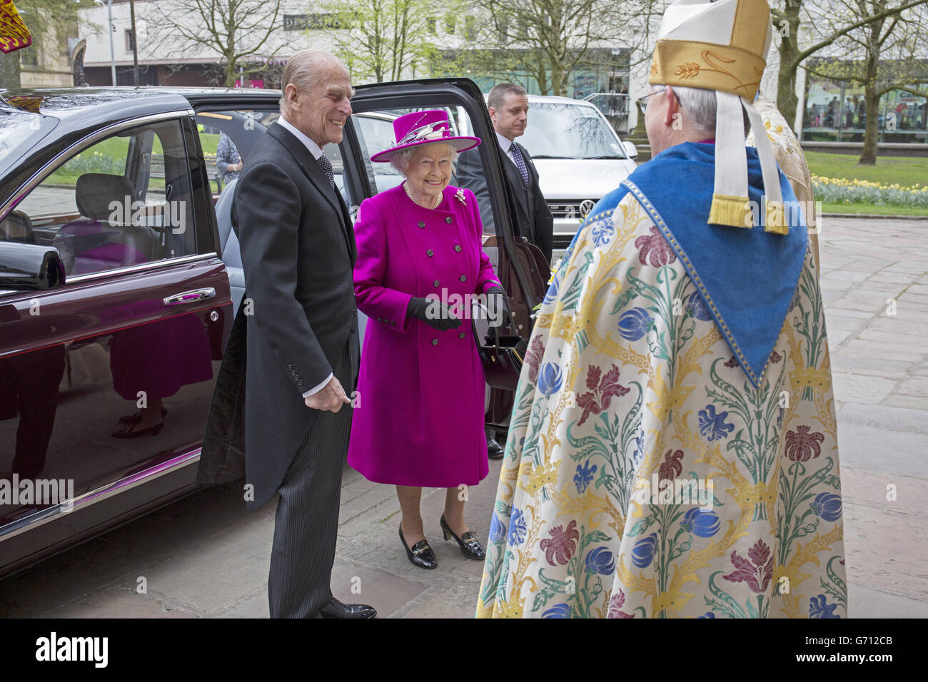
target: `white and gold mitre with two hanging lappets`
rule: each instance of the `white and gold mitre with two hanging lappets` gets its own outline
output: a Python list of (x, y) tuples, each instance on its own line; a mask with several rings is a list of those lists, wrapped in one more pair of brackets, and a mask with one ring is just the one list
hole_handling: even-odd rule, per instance
[(751, 226), (741, 109), (756, 138), (767, 232), (786, 234), (780, 176), (752, 102), (773, 37), (767, 0), (677, 0), (664, 11), (648, 83), (715, 90), (715, 190), (709, 223)]

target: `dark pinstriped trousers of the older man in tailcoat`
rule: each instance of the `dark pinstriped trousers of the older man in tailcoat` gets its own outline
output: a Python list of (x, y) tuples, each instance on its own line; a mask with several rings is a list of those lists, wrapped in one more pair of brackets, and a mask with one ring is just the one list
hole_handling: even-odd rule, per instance
[[(352, 334), (333, 372), (349, 395), (357, 356), (357, 337)], [(277, 491), (267, 581), (271, 618), (316, 618), (332, 596), (329, 580), (351, 418), (351, 405), (334, 413), (319, 412)]]

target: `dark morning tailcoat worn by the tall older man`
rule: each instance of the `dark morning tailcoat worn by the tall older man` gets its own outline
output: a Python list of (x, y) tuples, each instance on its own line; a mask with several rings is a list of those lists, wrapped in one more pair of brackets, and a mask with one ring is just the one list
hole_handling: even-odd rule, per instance
[(357, 343), (356, 249), (341, 196), (277, 123), (238, 179), (232, 227), (246, 289), (216, 380), (198, 482), (245, 473), (253, 485), (246, 506), (256, 509), (277, 492), (318, 415), (303, 393), (329, 376), (346, 343)]

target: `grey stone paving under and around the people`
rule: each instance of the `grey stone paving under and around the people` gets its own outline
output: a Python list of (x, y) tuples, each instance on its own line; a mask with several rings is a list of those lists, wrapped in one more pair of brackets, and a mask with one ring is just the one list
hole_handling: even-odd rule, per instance
[[(928, 221), (828, 217), (819, 243), (850, 615), (928, 617)], [(491, 461), (468, 491), (478, 537), (489, 533), (499, 469)], [(346, 466), (336, 597), (382, 617), (472, 617), (483, 562), (442, 538), (444, 500), (444, 490), (423, 492), (439, 561), (423, 571), (400, 547), (393, 486)], [(0, 615), (266, 618), (275, 508), (246, 511), (235, 484), (203, 490), (0, 581)]]

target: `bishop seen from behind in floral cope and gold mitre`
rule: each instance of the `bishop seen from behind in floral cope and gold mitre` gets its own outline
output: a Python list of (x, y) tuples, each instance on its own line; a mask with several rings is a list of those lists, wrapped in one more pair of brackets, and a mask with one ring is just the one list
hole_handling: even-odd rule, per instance
[(771, 36), (766, 0), (664, 13), (655, 156), (537, 315), (479, 616), (846, 617), (816, 263), (751, 104)]

